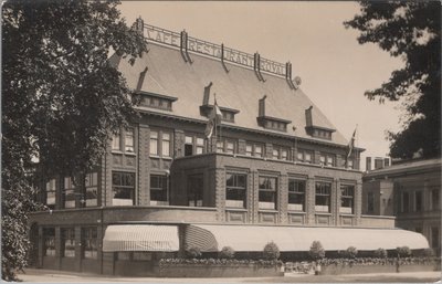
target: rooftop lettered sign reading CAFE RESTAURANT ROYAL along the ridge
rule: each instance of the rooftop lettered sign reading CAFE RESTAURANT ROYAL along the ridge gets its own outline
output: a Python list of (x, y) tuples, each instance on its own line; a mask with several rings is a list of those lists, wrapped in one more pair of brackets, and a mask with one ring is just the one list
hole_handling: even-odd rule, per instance
[[(154, 27), (150, 24), (144, 24), (144, 35), (147, 40), (158, 42), (161, 44), (181, 48), (181, 33), (172, 32), (166, 29)], [(230, 49), (223, 46), (223, 54), (220, 44), (202, 41), (196, 38), (187, 36), (187, 49), (194, 53), (200, 53), (207, 56), (220, 59), (223, 57), (224, 61), (232, 62), (234, 64), (254, 67), (254, 55), (245, 53), (239, 50)], [(267, 60), (261, 59), (260, 70), (276, 74), (280, 76), (286, 76), (286, 65)]]

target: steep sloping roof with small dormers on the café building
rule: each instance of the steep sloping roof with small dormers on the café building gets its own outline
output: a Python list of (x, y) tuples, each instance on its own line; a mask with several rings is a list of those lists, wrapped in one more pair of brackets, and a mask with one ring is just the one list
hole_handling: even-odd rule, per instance
[[(223, 125), (281, 134), (264, 129), (256, 120), (259, 99), (266, 95), (265, 116), (290, 122), (285, 135), (341, 146), (348, 144), (338, 130), (333, 133), (330, 140), (314, 138), (307, 134), (305, 111), (311, 106), (316, 127), (333, 130), (336, 127), (299, 87), (291, 87), (283, 76), (262, 72), (265, 81), (260, 81), (253, 69), (224, 61), (229, 70), (227, 72), (220, 60), (194, 52), (189, 52), (192, 62), (186, 62), (179, 49), (155, 42), (148, 43), (148, 50), (133, 65), (126, 60), (116, 59), (116, 55), (110, 59), (126, 77), (130, 88), (178, 98), (173, 103), (172, 112), (140, 106), (141, 111), (207, 122), (208, 118), (200, 113), (200, 106), (203, 104), (204, 87), (212, 82), (209, 105), (213, 104), (215, 94), (220, 107), (239, 111), (234, 123), (223, 122)], [(146, 72), (143, 80), (141, 72)]]

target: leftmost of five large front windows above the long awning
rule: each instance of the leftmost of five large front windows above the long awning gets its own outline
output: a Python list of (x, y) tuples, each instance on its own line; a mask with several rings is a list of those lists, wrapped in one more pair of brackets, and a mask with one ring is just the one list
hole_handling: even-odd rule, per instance
[(229, 172), (225, 177), (225, 206), (245, 208), (246, 175)]

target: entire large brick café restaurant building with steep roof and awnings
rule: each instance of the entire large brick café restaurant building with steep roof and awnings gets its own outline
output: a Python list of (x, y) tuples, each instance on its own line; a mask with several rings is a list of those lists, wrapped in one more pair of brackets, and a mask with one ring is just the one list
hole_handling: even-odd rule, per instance
[(85, 192), (70, 178), (46, 182), (52, 210), (30, 221), (35, 266), (148, 274), (191, 248), (251, 253), (270, 241), (283, 257), (313, 241), (326, 251), (428, 248), (393, 218), (361, 214), (362, 149), (348, 156), (291, 63), (141, 19), (134, 27), (148, 52), (109, 61), (140, 98), (140, 117), (109, 141)]

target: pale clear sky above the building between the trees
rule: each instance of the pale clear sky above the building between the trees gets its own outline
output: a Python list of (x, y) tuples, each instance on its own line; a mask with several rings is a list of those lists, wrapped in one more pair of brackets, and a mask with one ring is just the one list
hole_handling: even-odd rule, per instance
[(359, 32), (343, 22), (359, 12), (349, 1), (123, 1), (130, 25), (145, 23), (180, 32), (261, 57), (292, 62), (301, 88), (365, 157), (389, 152), (386, 130), (400, 129), (399, 103), (379, 104), (364, 93), (388, 81), (403, 63), (375, 44), (360, 45)]

